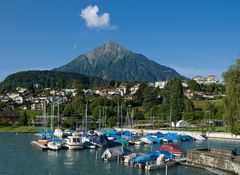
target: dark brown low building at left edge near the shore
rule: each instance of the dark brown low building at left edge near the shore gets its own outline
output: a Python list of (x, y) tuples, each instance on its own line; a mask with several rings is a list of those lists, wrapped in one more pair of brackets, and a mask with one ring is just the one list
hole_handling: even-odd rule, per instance
[(18, 112), (0, 112), (1, 125), (19, 124), (20, 114)]

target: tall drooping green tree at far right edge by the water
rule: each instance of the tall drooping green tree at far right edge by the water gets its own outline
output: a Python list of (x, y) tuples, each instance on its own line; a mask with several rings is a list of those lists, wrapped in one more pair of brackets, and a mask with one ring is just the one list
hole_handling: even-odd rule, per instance
[(226, 84), (225, 122), (232, 133), (239, 134), (237, 121), (240, 118), (240, 59), (223, 73), (223, 78)]

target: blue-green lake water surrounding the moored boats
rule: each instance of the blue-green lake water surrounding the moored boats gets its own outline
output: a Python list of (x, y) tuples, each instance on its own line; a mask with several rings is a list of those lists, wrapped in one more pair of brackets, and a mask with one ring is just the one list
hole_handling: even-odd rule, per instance
[[(136, 167), (124, 166), (117, 161), (104, 162), (98, 150), (40, 151), (30, 144), (34, 134), (0, 133), (0, 175), (165, 175), (165, 170), (145, 172)], [(240, 153), (240, 142), (209, 140), (210, 147), (236, 148)], [(191, 148), (206, 147), (207, 141), (176, 142), (185, 152)], [(149, 152), (160, 145), (129, 146), (135, 152)], [(96, 159), (96, 151), (97, 157)], [(214, 175), (207, 170), (186, 166), (168, 167), (169, 175)]]

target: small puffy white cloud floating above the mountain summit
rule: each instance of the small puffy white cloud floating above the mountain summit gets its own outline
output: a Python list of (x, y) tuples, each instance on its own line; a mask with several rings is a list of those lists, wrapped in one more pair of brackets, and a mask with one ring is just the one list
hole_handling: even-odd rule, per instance
[(113, 30), (115, 26), (110, 24), (110, 14), (103, 13), (98, 14), (98, 6), (89, 5), (85, 9), (81, 10), (80, 16), (85, 20), (86, 25), (91, 29), (98, 30)]

